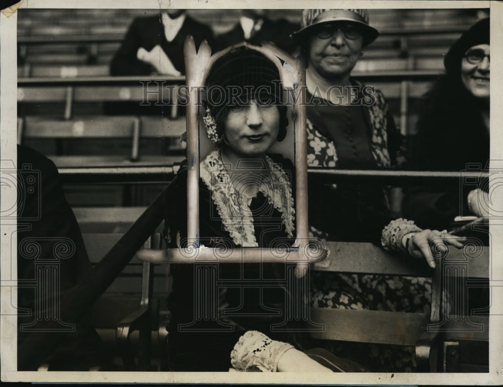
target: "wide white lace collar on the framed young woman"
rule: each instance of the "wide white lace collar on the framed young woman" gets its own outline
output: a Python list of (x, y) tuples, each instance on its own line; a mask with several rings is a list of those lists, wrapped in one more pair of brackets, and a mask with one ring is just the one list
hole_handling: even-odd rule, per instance
[[(289, 238), (293, 238), (295, 210), (290, 180), (281, 166), (275, 164), (269, 156), (266, 156), (266, 168), (270, 178), (258, 182), (259, 191), (281, 213), (286, 233)], [(234, 188), (219, 150), (212, 151), (201, 162), (199, 174), (211, 191), (223, 228), (232, 241), (243, 247), (259, 247), (255, 238), (253, 214), (249, 208), (252, 198)]]

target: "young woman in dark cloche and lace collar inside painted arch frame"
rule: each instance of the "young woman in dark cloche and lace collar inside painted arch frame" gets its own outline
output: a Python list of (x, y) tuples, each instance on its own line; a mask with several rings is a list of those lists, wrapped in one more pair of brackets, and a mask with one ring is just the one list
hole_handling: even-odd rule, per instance
[[(198, 237), (199, 243), (215, 248), (215, 254), (217, 249), (291, 246), (295, 240), (294, 166), (281, 154), (269, 153), (276, 141), (285, 138), (288, 125), (277, 80), (276, 66), (243, 46), (217, 59), (210, 69), (207, 86), (213, 92), (206, 96), (203, 121), (216, 150), (200, 162)], [(187, 168), (173, 184), (177, 199), (186, 198)], [(184, 248), (187, 203), (177, 202), (167, 211), (168, 246)], [(246, 278), (248, 286), (220, 288), (214, 321), (195, 320), (196, 286), (203, 283), (196, 282), (197, 265), (171, 268), (173, 291), (167, 304), (172, 312), (168, 340), (172, 370), (227, 371), (232, 365), (238, 370), (329, 371), (294, 349), (289, 344), (291, 333), (271, 329), (285, 315), (267, 315), (267, 310), (284, 311), (287, 295), (280, 287), (258, 286), (261, 278), (285, 278), (284, 265), (219, 265), (218, 278)], [(212, 305), (204, 306), (208, 310)], [(192, 331), (183, 331), (181, 324), (190, 325)], [(222, 324), (230, 330), (222, 331)]]

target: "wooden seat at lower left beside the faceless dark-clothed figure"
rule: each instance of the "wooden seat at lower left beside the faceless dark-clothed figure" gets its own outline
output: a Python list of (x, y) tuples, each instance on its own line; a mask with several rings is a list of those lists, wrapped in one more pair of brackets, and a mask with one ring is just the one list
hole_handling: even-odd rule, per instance
[[(98, 264), (145, 210), (145, 207), (75, 208), (89, 259)], [(145, 248), (161, 248), (159, 225)], [(116, 365), (124, 370), (152, 371), (162, 357), (156, 333), (167, 315), (168, 269), (133, 258), (91, 308), (91, 324)], [(159, 307), (160, 306), (160, 307)]]

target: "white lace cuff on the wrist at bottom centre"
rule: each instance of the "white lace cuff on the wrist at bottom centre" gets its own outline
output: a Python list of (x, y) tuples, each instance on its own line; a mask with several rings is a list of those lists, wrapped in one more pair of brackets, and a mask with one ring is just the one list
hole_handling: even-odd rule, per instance
[(271, 340), (261, 332), (248, 331), (230, 353), (230, 363), (238, 371), (257, 367), (263, 372), (276, 372), (280, 357), (291, 348), (292, 345)]

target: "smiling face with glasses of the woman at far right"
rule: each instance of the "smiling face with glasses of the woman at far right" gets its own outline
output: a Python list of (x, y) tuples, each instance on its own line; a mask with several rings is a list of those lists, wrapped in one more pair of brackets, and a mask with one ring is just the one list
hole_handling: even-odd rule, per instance
[(461, 60), (461, 81), (465, 88), (477, 98), (489, 98), (489, 55), (488, 44), (470, 47)]

